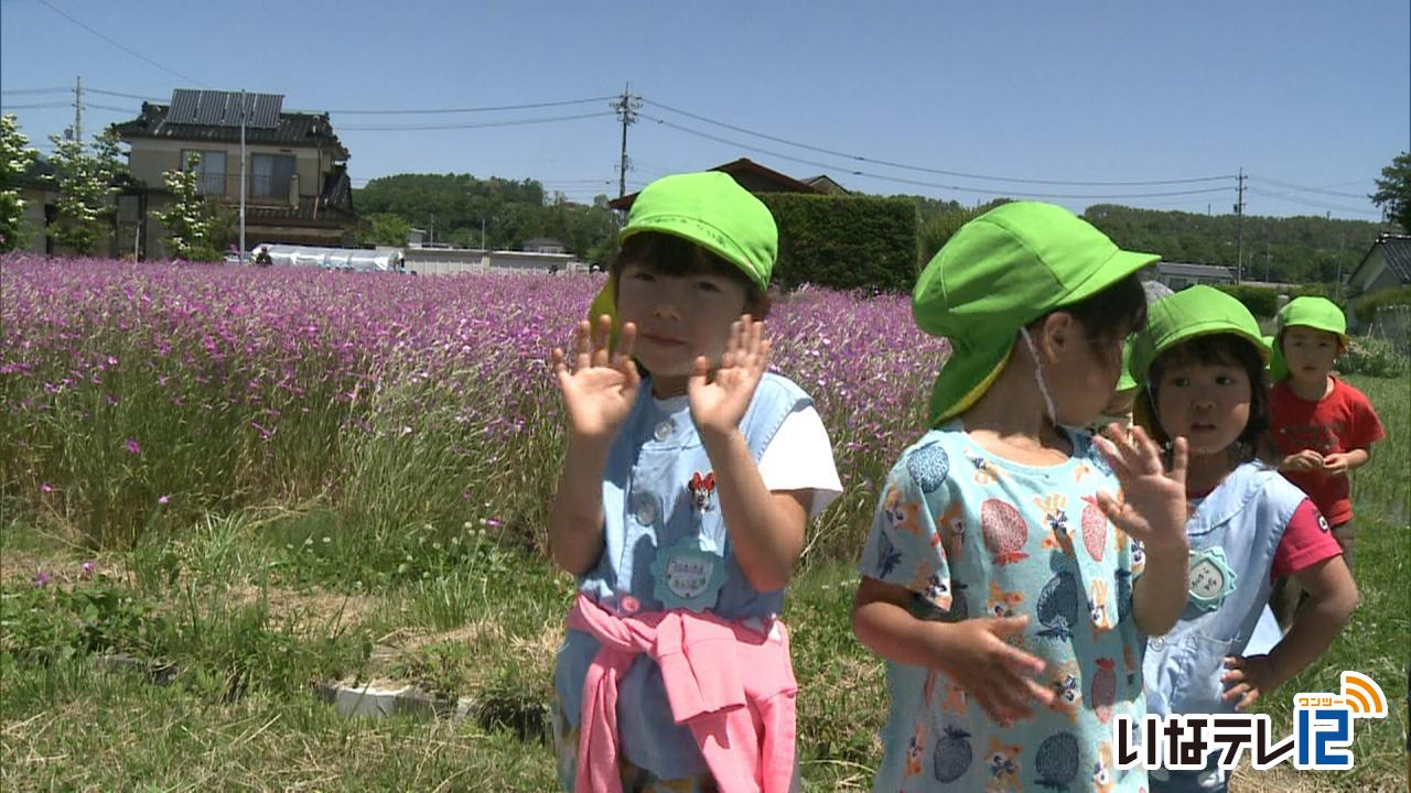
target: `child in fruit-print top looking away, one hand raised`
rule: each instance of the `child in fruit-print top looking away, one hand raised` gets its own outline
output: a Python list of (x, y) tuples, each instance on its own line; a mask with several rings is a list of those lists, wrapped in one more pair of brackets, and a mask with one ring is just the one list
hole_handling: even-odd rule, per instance
[(1184, 460), (1167, 477), (1143, 432), (1099, 439), (1105, 454), (1068, 428), (1108, 402), (1156, 258), (1017, 202), (921, 274), (917, 325), (954, 351), (859, 566), (852, 626), (892, 700), (875, 790), (1146, 786), (1113, 768), (1110, 720), (1144, 713), (1141, 634), (1180, 615)]

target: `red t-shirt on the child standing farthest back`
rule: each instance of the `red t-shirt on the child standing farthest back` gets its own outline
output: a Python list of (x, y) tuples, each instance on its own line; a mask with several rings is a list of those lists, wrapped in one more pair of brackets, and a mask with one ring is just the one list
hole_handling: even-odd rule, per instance
[[(1294, 454), (1312, 449), (1328, 456), (1366, 449), (1386, 437), (1381, 419), (1371, 409), (1367, 396), (1336, 377), (1332, 382), (1332, 392), (1316, 402), (1294, 394), (1287, 380), (1268, 389), (1270, 435), (1280, 453)], [(1348, 474), (1284, 471), (1284, 476), (1312, 498), (1314, 505), (1333, 526), (1352, 519)]]

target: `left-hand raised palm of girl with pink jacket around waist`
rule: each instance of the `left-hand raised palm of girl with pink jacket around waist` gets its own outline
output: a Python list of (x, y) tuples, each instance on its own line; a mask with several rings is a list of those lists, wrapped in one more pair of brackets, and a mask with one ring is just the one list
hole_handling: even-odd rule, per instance
[(642, 382), (632, 363), (636, 326), (622, 326), (617, 350), (608, 351), (612, 319), (607, 315), (594, 325), (579, 323), (574, 333), (573, 370), (562, 349), (555, 347), (553, 374), (563, 394), (569, 430), (584, 440), (611, 440), (632, 412), (636, 389)]

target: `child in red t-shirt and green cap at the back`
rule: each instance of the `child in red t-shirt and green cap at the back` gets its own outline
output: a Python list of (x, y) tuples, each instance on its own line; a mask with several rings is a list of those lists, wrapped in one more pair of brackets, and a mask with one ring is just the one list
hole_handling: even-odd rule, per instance
[[(1336, 303), (1295, 298), (1280, 309), (1276, 330), (1268, 409), (1270, 436), (1281, 454), (1278, 470), (1328, 519), (1352, 567), (1357, 531), (1348, 477), (1367, 464), (1371, 444), (1386, 432), (1366, 395), (1332, 374), (1338, 356), (1348, 351), (1348, 320)], [(1300, 600), (1292, 583), (1276, 583), (1270, 605), (1281, 625), (1292, 622)]]

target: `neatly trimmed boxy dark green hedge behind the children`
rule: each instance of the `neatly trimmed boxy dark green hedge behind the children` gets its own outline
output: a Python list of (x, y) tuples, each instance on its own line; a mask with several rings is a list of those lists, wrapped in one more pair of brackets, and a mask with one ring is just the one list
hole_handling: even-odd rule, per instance
[(775, 284), (909, 292), (916, 206), (902, 198), (759, 193), (779, 224)]

